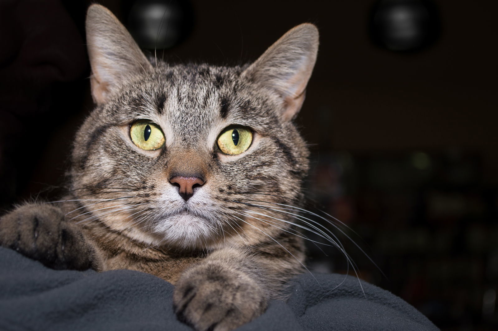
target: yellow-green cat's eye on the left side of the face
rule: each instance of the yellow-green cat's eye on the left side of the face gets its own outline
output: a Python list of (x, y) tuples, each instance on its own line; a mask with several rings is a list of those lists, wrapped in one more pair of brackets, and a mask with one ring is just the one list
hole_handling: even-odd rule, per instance
[(129, 129), (131, 141), (138, 148), (146, 151), (157, 150), (164, 146), (164, 134), (157, 124), (141, 120), (131, 125)]

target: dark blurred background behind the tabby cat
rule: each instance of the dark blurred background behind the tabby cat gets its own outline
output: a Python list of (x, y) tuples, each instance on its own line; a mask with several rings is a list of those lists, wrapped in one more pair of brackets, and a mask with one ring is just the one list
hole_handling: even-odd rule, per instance
[[(91, 2), (0, 1), (2, 211), (58, 192), (93, 108)], [(319, 56), (297, 119), (312, 151), (310, 210), (349, 227), (328, 225), (359, 277), (442, 330), (497, 330), (497, 1), (99, 2), (176, 63), (252, 61), (315, 23)], [(309, 250), (312, 270), (354, 274), (337, 250)]]

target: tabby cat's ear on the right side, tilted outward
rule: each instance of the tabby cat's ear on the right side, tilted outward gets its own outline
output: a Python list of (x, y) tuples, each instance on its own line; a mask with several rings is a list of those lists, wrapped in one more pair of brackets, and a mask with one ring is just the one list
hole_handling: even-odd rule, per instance
[(275, 91), (282, 99), (282, 118), (288, 121), (301, 109), (317, 53), (318, 29), (300, 24), (271, 45), (242, 76)]

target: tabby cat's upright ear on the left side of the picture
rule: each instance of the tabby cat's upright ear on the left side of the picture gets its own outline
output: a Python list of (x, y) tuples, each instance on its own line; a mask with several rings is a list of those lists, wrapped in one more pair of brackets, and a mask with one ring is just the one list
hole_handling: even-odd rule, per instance
[(92, 4), (88, 8), (86, 31), (92, 96), (98, 105), (106, 103), (138, 71), (152, 72), (129, 32), (106, 7)]

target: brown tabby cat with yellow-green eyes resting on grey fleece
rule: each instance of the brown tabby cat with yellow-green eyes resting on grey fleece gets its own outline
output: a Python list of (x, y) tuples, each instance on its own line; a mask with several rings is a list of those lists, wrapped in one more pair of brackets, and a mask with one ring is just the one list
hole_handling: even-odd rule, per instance
[(305, 270), (309, 152), (293, 119), (317, 28), (235, 67), (149, 60), (98, 4), (86, 31), (96, 108), (74, 139), (67, 195), (4, 215), (0, 244), (54, 269), (160, 277), (198, 331), (251, 321)]

